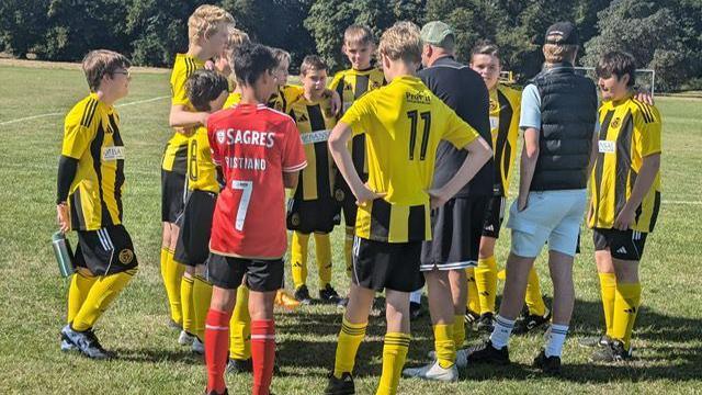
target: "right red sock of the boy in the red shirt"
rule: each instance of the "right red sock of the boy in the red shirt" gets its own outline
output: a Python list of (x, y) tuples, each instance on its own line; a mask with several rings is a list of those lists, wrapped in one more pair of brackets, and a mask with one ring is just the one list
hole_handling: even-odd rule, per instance
[(269, 395), (275, 361), (275, 323), (272, 319), (251, 321), (251, 359), (253, 364), (252, 395)]

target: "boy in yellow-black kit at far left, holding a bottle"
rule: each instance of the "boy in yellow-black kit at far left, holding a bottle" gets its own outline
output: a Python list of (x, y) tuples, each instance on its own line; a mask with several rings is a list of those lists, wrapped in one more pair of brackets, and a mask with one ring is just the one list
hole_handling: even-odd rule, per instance
[(122, 225), (125, 156), (113, 106), (129, 92), (131, 66), (112, 50), (86, 55), (90, 94), (66, 115), (58, 162), (58, 224), (64, 233), (78, 232), (61, 350), (78, 349), (93, 359), (110, 354), (92, 328), (137, 271), (132, 237)]

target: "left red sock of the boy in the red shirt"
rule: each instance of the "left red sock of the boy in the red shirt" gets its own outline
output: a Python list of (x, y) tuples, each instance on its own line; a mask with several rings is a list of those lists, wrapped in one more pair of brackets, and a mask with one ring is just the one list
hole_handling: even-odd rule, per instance
[(227, 384), (224, 371), (227, 368), (229, 352), (230, 314), (210, 309), (205, 321), (205, 364), (207, 365), (207, 392), (224, 394)]

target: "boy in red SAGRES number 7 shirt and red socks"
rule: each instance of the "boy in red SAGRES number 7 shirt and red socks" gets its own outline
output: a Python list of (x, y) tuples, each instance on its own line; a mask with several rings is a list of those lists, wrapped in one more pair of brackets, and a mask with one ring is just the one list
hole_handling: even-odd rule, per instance
[(208, 280), (214, 285), (205, 325), (207, 394), (226, 393), (229, 318), (246, 275), (250, 290), (254, 395), (268, 395), (275, 359), (273, 301), (283, 283), (285, 191), (295, 188), (307, 161), (294, 121), (269, 109), (278, 88), (270, 48), (244, 45), (235, 53), (241, 101), (207, 121), (212, 158), (222, 166), (210, 240)]

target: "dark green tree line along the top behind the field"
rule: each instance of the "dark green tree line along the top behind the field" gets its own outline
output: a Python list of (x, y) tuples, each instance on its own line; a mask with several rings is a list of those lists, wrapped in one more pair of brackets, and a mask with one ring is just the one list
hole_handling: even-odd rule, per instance
[(656, 70), (657, 90), (702, 88), (699, 0), (2, 0), (0, 50), (76, 61), (110, 48), (136, 65), (170, 66), (188, 48), (188, 16), (207, 2), (229, 10), (253, 40), (290, 50), (293, 68), (312, 53), (333, 70), (346, 67), (340, 48), (352, 23), (380, 35), (398, 20), (440, 19), (456, 31), (460, 60), (487, 38), (500, 46), (503, 69), (524, 80), (541, 68), (546, 27), (570, 20), (584, 44), (581, 66), (623, 49)]

